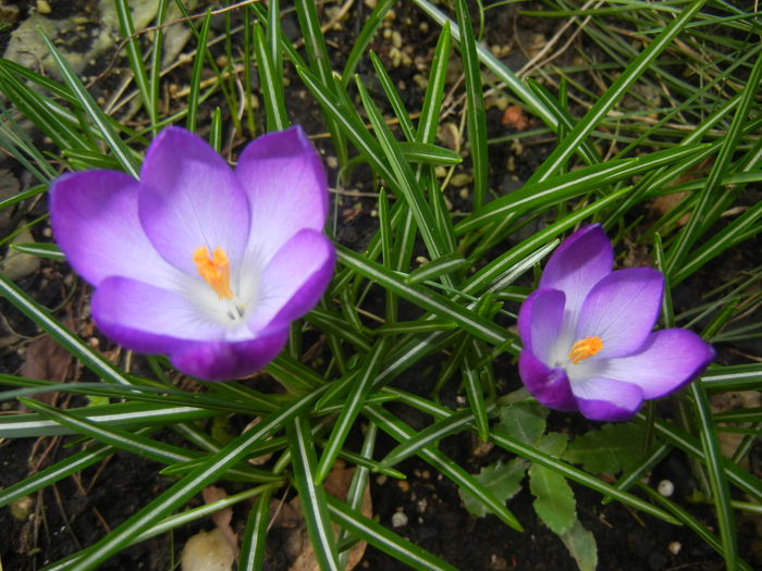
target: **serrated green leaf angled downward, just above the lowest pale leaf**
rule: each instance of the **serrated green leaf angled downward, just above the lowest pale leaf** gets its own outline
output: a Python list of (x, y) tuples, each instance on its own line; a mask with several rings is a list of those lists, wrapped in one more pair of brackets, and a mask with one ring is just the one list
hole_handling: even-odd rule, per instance
[(561, 535), (577, 520), (577, 502), (566, 479), (539, 464), (529, 469), (529, 491), (534, 495), (534, 511), (551, 531)]

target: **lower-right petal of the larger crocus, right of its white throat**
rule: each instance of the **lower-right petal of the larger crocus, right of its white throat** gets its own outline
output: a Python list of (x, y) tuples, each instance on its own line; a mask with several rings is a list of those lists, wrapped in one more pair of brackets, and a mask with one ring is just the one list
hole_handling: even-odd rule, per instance
[(248, 326), (281, 330), (318, 302), (333, 274), (333, 245), (321, 233), (303, 229), (283, 246), (265, 269)]

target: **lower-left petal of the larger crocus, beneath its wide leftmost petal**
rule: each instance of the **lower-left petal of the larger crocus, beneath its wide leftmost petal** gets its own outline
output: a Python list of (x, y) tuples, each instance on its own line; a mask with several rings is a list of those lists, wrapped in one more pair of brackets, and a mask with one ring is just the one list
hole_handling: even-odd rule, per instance
[(172, 351), (182, 340), (222, 339), (226, 333), (184, 296), (121, 276), (98, 286), (93, 316), (116, 343), (148, 353)]

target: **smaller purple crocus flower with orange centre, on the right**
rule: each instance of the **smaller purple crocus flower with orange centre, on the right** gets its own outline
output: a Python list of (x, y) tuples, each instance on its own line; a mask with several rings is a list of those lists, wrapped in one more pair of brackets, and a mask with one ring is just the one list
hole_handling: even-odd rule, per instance
[(690, 331), (651, 331), (661, 272), (612, 272), (613, 261), (600, 225), (579, 229), (553, 252), (518, 314), (527, 389), (549, 408), (599, 421), (630, 419), (643, 400), (679, 389), (714, 358)]

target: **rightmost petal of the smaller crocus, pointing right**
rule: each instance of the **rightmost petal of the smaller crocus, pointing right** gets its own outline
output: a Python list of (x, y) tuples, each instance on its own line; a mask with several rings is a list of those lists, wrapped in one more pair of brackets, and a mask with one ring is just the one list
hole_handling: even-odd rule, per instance
[(602, 374), (638, 385), (646, 399), (666, 396), (696, 378), (714, 359), (714, 349), (688, 330), (649, 335), (638, 352), (605, 362)]

